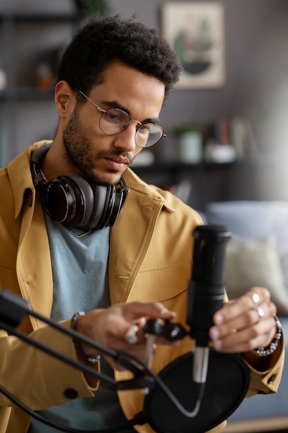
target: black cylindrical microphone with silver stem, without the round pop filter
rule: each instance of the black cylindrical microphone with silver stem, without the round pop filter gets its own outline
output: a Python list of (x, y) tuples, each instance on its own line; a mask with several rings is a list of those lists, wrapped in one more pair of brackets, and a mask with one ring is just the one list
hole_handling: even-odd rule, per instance
[(209, 365), (209, 329), (224, 300), (224, 265), (231, 232), (224, 225), (201, 225), (193, 231), (193, 272), (188, 287), (187, 324), (195, 339), (193, 382), (202, 399)]

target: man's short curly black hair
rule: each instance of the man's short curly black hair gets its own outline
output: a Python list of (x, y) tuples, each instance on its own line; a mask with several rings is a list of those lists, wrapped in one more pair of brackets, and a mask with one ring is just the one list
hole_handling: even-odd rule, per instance
[(104, 72), (113, 60), (163, 82), (164, 102), (179, 80), (181, 66), (177, 55), (157, 29), (144, 26), (135, 17), (95, 15), (80, 28), (64, 51), (57, 81), (66, 80), (73, 89), (87, 94), (103, 82)]

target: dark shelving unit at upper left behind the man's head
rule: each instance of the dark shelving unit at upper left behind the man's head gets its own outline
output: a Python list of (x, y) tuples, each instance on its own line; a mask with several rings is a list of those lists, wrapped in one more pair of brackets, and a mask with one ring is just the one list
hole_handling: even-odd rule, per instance
[[(0, 90), (0, 130), (5, 130), (5, 163), (19, 153), (23, 143), (35, 140), (33, 134), (42, 136), (48, 125), (54, 125), (50, 110), (54, 89), (36, 86), (37, 65), (49, 64), (55, 75), (58, 50), (70, 41), (82, 19), (83, 15), (77, 11), (0, 12), (0, 57), (8, 80), (8, 86)], [(39, 113), (47, 107), (47, 118), (31, 119), (32, 125), (37, 122), (35, 127), (28, 127), (26, 120), (31, 102), (39, 102)], [(35, 118), (37, 107), (34, 107)]]

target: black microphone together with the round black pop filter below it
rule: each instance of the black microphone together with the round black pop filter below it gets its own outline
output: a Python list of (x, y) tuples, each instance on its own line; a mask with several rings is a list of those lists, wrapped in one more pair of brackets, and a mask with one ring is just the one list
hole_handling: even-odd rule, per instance
[(143, 412), (157, 433), (210, 431), (237, 409), (249, 387), (249, 368), (238, 354), (209, 348), (213, 315), (224, 300), (224, 265), (231, 233), (224, 225), (202, 225), (195, 228), (193, 237), (186, 323), (195, 349), (158, 374), (173, 394), (173, 402), (157, 384), (144, 399)]

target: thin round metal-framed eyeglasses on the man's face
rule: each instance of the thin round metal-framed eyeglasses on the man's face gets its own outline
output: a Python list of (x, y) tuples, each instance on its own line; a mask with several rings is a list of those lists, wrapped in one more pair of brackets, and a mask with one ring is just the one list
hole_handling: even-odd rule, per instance
[(138, 120), (133, 120), (129, 117), (128, 113), (122, 109), (110, 108), (104, 110), (98, 107), (95, 102), (91, 101), (81, 90), (79, 90), (79, 93), (101, 111), (99, 127), (107, 136), (116, 136), (117, 133), (124, 131), (130, 122), (137, 122), (135, 143), (138, 147), (151, 147), (161, 140), (163, 136), (166, 137), (160, 125), (151, 122), (141, 123)]

